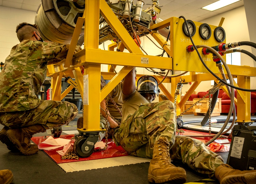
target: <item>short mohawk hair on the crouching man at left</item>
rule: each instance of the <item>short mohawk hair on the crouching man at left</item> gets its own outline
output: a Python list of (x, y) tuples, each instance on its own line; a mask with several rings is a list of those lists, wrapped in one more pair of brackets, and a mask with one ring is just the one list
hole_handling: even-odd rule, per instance
[(37, 28), (36, 24), (28, 24), (26, 22), (17, 25), (16, 33), (19, 41), (22, 42), (23, 40), (29, 40), (33, 36), (34, 31), (38, 33)]

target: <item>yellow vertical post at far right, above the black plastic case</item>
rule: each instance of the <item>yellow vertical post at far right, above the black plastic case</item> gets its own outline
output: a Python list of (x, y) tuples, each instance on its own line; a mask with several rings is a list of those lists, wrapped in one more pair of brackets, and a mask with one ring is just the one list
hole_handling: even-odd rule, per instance
[[(240, 88), (251, 89), (250, 77), (238, 75), (237, 84)], [(237, 93), (237, 122), (251, 122), (251, 92), (242, 91), (242, 93), (245, 99)]]

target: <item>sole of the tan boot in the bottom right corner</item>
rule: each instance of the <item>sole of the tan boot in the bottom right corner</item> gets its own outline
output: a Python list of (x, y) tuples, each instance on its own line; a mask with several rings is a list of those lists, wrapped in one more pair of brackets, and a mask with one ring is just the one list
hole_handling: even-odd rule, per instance
[(254, 184), (256, 180), (255, 172), (245, 173), (242, 175), (226, 176), (221, 180), (222, 184)]

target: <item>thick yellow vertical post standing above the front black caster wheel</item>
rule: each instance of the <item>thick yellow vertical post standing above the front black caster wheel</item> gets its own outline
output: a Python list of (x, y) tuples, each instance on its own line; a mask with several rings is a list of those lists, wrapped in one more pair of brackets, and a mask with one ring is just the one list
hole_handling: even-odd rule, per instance
[[(100, 0), (85, 1), (85, 41), (84, 48), (99, 47), (99, 7)], [(100, 63), (100, 62), (99, 62)], [(99, 131), (100, 122), (100, 64), (86, 63), (84, 85), (84, 131)]]

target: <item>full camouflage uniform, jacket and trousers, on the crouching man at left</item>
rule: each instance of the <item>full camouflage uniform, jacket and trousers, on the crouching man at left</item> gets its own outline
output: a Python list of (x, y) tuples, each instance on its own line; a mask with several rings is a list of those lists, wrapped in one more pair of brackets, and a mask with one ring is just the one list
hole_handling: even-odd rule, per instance
[(39, 123), (52, 128), (76, 117), (78, 109), (74, 104), (37, 98), (47, 64), (64, 59), (68, 49), (69, 44), (32, 40), (23, 40), (11, 49), (0, 73), (2, 125), (16, 128)]

